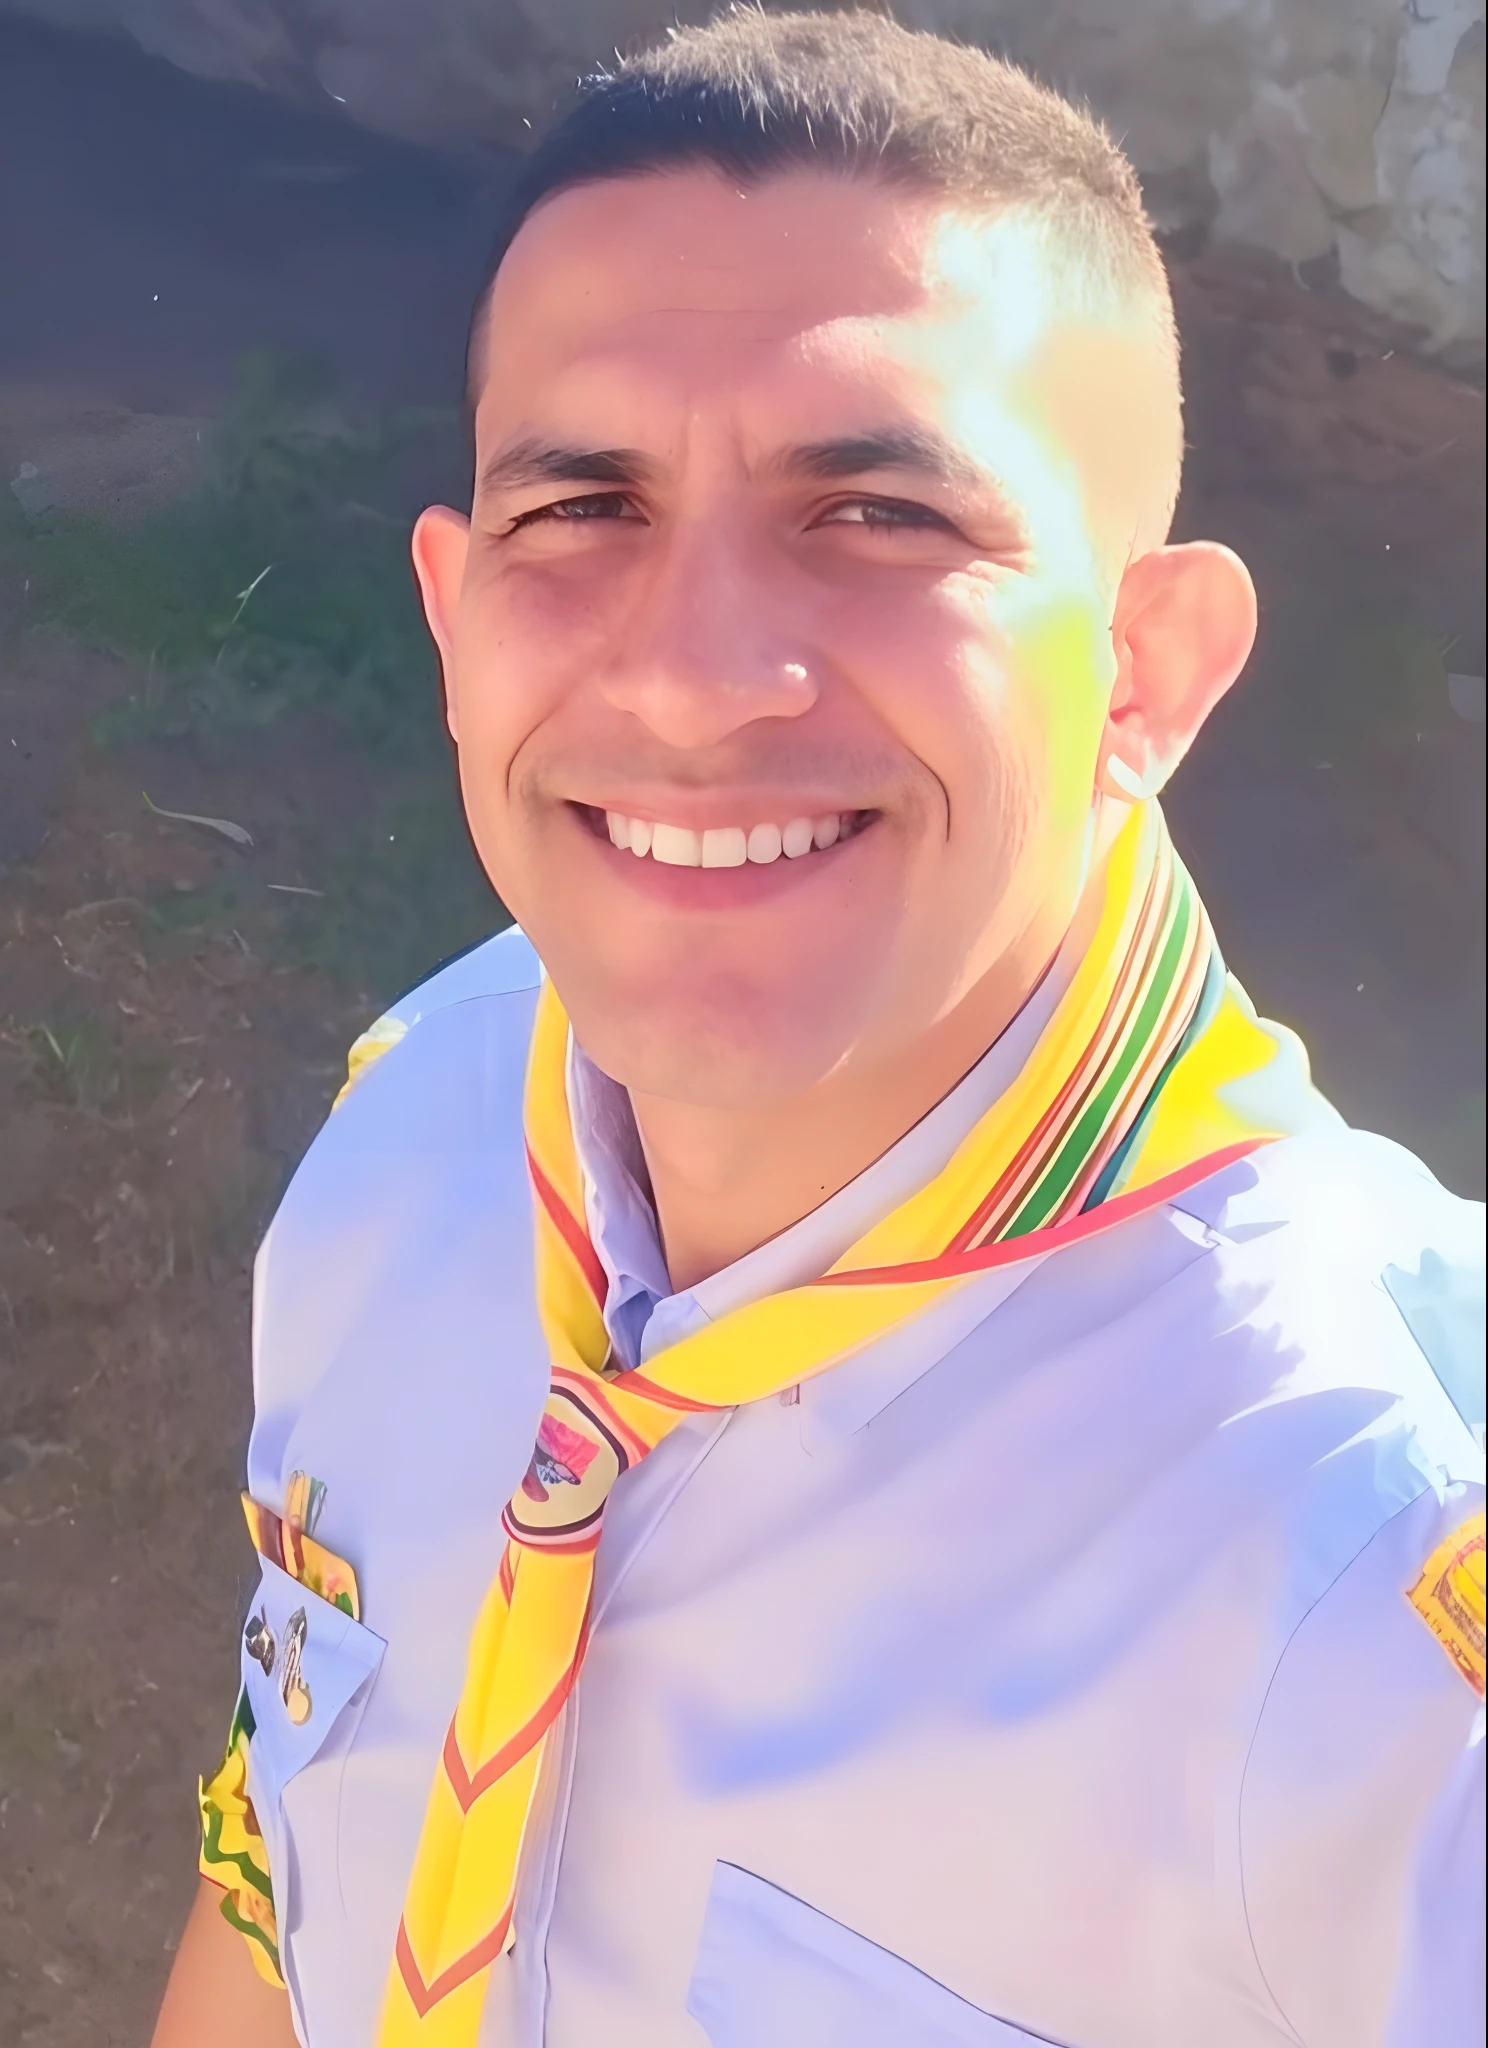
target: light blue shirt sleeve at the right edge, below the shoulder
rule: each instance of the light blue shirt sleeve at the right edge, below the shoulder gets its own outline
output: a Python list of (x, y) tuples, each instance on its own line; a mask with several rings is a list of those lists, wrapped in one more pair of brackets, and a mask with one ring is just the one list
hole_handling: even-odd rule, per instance
[(1472, 1597), (1461, 1640), (1423, 1597), (1443, 1552), (1476, 1540), (1480, 1569), (1480, 1487), (1429, 1487), (1310, 1608), (1271, 1679), (1240, 1798), (1244, 1913), (1304, 2048), (1482, 2044), (1482, 1593), (1476, 1663)]

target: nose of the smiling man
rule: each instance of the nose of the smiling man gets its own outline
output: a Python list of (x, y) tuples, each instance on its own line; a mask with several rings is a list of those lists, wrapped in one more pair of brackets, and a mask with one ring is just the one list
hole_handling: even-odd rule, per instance
[(637, 592), (602, 696), (682, 750), (811, 711), (819, 682), (763, 569), (727, 535), (677, 535)]

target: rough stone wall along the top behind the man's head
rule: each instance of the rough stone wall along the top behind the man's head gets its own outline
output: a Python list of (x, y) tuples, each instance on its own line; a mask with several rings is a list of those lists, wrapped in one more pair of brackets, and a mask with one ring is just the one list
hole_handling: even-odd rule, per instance
[[(483, 154), (710, 0), (0, 0), (201, 78)], [(1193, 248), (1328, 281), (1468, 365), (1484, 340), (1484, 0), (896, 0), (1087, 96)]]

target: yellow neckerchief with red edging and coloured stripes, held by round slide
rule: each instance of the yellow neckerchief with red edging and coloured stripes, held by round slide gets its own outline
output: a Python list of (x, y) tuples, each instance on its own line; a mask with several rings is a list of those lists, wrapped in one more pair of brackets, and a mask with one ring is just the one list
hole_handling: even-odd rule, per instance
[(583, 1663), (616, 1479), (686, 1415), (825, 1372), (976, 1274), (1111, 1229), (1296, 1126), (1281, 1104), (1255, 1120), (1234, 1100), (1234, 1083), (1263, 1069), (1267, 1081), (1298, 1069), (1228, 981), (1156, 805), (1132, 811), (1091, 891), (1093, 936), (1066, 993), (944, 1171), (813, 1284), (749, 1303), (637, 1372), (608, 1364), (606, 1280), (565, 1092), (569, 1024), (544, 985), (526, 1143), (553, 1386), (471, 1634), (379, 2048), (475, 2048), (491, 1966), (510, 1946), (544, 1741)]

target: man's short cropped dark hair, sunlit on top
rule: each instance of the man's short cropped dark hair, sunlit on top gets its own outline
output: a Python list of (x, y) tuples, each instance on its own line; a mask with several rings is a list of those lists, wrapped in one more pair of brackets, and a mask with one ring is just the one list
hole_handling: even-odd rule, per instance
[(1177, 375), (1142, 188), (1087, 109), (984, 49), (882, 14), (733, 6), (579, 82), (510, 193), (471, 322), (471, 383), (495, 272), (534, 207), (571, 186), (692, 166), (739, 184), (827, 170), (1027, 213), (1081, 297), (1150, 311)]

